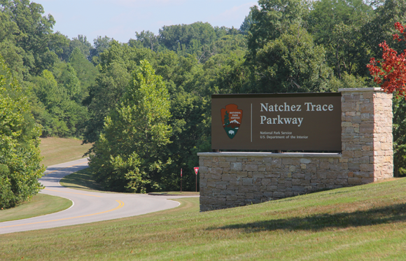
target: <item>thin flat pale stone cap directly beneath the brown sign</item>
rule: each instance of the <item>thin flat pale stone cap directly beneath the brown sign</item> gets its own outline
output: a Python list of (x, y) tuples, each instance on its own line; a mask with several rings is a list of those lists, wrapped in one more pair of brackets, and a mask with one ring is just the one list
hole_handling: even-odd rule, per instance
[(197, 153), (206, 157), (342, 157), (341, 153)]

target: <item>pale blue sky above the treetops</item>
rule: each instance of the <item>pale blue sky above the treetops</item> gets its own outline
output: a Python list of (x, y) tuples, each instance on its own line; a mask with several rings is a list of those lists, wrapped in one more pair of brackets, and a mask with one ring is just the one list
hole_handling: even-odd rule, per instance
[(135, 31), (158, 34), (164, 25), (209, 22), (212, 26), (239, 28), (257, 4), (250, 0), (32, 0), (52, 15), (69, 38), (78, 34), (93, 42), (109, 36), (122, 43), (135, 38)]

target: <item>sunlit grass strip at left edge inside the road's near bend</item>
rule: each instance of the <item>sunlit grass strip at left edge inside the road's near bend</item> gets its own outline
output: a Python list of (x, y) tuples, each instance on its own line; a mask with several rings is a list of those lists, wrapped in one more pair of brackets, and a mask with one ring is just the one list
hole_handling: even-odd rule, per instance
[(72, 202), (63, 197), (37, 194), (29, 202), (12, 209), (0, 210), (0, 222), (43, 216), (68, 209), (71, 205)]

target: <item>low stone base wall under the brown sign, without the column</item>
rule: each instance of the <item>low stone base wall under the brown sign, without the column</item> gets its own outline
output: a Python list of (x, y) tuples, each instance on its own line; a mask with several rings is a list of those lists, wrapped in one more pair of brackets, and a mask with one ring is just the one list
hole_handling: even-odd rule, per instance
[(199, 153), (200, 210), (360, 184), (338, 153)]

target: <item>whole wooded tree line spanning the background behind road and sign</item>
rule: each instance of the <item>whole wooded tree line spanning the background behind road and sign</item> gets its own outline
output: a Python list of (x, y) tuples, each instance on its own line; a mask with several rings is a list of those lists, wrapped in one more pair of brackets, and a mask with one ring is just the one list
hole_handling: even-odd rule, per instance
[[(29, 0), (0, 0), (0, 11), (1, 61), (31, 124), (43, 137), (93, 143), (97, 181), (128, 192), (179, 189), (179, 170), (211, 149), (211, 94), (377, 87), (366, 65), (406, 22), (405, 0), (260, 0), (239, 28), (195, 22), (90, 43), (54, 32), (52, 15)], [(396, 175), (406, 171), (405, 108), (394, 99)]]

